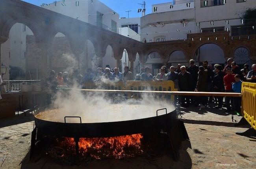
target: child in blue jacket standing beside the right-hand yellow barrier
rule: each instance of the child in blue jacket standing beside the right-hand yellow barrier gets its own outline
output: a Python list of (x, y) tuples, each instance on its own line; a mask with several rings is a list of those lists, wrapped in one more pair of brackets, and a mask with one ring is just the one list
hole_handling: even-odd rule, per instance
[[(242, 81), (240, 80), (240, 78), (241, 78), (240, 75), (238, 74), (235, 75), (236, 82), (232, 84), (232, 90), (235, 93), (241, 93)], [(234, 97), (233, 104), (234, 104), (233, 107), (234, 107), (235, 114), (237, 114), (237, 116), (241, 116), (241, 97)]]

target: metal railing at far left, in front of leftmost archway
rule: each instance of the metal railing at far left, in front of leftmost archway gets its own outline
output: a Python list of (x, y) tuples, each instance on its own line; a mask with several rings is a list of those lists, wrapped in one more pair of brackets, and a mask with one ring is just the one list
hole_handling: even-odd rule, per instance
[(3, 80), (6, 92), (21, 91), (22, 85), (41, 85), (41, 80)]

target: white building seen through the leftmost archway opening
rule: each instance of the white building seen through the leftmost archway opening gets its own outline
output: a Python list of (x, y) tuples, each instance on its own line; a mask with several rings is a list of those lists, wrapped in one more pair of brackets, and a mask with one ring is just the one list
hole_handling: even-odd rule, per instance
[[(20, 22), (13, 23), (8, 28), (9, 38), (2, 44), (5, 50), (2, 50), (2, 55), (0, 55), (3, 58), (0, 63), (6, 67), (4, 79), (37, 79), (39, 78), (39, 71), (41, 71), (41, 69), (38, 69), (39, 63), (35, 62), (35, 65), (32, 65), (27, 62), (28, 58), (30, 58), (30, 53), (26, 51), (27, 44), (31, 42), (35, 44), (35, 36), (28, 25)], [(39, 60), (40, 56), (34, 53), (31, 58)]]

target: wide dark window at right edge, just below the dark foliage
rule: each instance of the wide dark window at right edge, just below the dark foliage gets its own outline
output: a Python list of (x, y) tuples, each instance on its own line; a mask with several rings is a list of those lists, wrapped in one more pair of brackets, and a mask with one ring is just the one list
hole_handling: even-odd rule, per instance
[(256, 29), (252, 26), (231, 26), (231, 36), (241, 36), (241, 35), (256, 35)]

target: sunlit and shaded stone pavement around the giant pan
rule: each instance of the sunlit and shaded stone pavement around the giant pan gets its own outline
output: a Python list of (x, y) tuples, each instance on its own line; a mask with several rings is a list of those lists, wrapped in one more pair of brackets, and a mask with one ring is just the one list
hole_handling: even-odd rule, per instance
[[(239, 121), (241, 117), (234, 116)], [(24, 114), (0, 119), (0, 168), (1, 169), (78, 169), (78, 168), (235, 168), (252, 169), (256, 166), (256, 138), (239, 136), (249, 125), (235, 127), (231, 115), (224, 110), (188, 107), (181, 109), (178, 118), (185, 123), (192, 149), (183, 142), (180, 161), (170, 157), (156, 159), (132, 158), (126, 160), (92, 161), (86, 166), (63, 166), (48, 159), (29, 161), (33, 115)]]

